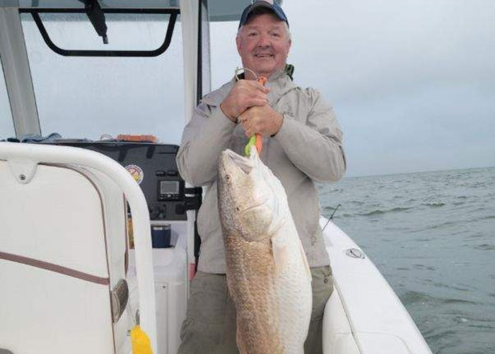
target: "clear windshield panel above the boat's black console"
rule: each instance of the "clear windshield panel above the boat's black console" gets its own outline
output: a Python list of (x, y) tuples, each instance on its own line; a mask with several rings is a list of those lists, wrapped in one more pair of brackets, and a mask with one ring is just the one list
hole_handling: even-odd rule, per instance
[[(105, 17), (107, 45), (85, 14), (41, 16), (54, 44), (65, 50), (156, 50), (170, 15)], [(184, 80), (179, 21), (170, 46), (158, 57), (64, 57), (45, 44), (30, 14), (21, 19), (42, 135), (96, 140), (103, 134), (146, 134), (180, 142)]]

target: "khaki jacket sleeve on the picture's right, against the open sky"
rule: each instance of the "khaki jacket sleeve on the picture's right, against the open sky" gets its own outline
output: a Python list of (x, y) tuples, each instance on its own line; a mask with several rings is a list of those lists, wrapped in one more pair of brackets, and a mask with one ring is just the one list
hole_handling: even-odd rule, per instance
[(274, 136), (292, 163), (314, 181), (339, 181), (346, 170), (342, 130), (332, 108), (314, 89), (306, 89), (310, 110), (305, 120), (284, 114)]

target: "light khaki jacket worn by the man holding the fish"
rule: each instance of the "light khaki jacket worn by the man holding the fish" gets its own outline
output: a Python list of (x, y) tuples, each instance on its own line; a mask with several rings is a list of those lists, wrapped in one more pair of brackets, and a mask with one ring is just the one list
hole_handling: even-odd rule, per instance
[[(220, 109), (234, 83), (232, 80), (204, 96), (185, 127), (177, 153), (182, 178), (206, 187), (197, 219), (202, 239), (198, 269), (204, 273), (226, 273), (217, 205), (220, 153), (228, 148), (244, 154), (248, 142), (242, 125), (229, 120)], [(301, 89), (283, 70), (272, 74), (267, 86), (269, 105), (284, 115), (284, 121), (274, 137), (263, 138), (260, 157), (284, 185), (310, 267), (329, 265), (315, 181), (338, 181), (344, 175), (342, 131), (332, 108), (315, 89)]]

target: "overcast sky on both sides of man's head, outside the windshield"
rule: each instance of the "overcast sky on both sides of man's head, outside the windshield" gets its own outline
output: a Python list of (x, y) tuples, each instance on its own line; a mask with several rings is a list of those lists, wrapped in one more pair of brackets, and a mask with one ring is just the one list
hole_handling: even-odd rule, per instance
[[(495, 1), (287, 0), (283, 8), (294, 81), (332, 105), (347, 176), (495, 166)], [(211, 26), (213, 87), (240, 66), (236, 29)]]

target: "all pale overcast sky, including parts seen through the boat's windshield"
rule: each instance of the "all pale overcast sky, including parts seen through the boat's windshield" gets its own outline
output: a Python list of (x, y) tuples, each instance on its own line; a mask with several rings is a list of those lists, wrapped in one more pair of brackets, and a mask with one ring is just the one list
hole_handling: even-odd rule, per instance
[[(347, 176), (495, 166), (495, 1), (286, 0), (283, 8), (294, 81), (320, 90), (332, 105), (344, 132)], [(160, 44), (165, 28), (107, 25), (110, 45), (146, 49)], [(211, 24), (213, 88), (240, 66), (237, 26)], [(23, 30), (43, 134), (155, 133), (179, 142), (180, 23), (168, 52), (144, 60), (67, 59), (47, 49), (33, 21)], [(74, 43), (71, 28), (48, 30), (62, 47)], [(81, 43), (100, 45), (86, 30)], [(83, 28), (75, 32), (83, 37)], [(165, 125), (164, 116), (173, 124)], [(0, 139), (13, 135), (10, 120), (2, 82)]]

